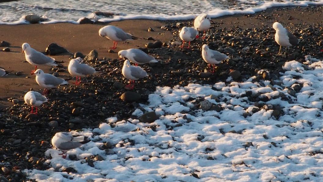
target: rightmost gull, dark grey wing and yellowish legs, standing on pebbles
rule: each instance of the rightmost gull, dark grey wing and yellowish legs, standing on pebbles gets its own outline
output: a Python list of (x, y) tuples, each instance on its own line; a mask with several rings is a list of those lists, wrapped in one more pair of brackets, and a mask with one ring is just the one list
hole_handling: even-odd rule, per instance
[(275, 40), (278, 43), (278, 45), (280, 45), (278, 54), (280, 54), (280, 50), (282, 46), (286, 47), (286, 51), (287, 51), (287, 48), (289, 46), (296, 46), (298, 44), (297, 37), (295, 37), (292, 33), (290, 33), (287, 30), (287, 28), (284, 28), (282, 24), (275, 22), (273, 24), (273, 28), (276, 30)]

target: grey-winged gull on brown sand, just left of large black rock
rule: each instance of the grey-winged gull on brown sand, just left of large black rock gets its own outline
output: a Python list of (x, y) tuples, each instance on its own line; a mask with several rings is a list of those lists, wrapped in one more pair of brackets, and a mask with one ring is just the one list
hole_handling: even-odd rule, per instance
[(39, 65), (51, 65), (57, 66), (54, 58), (48, 57), (41, 52), (36, 51), (35, 49), (31, 48), (28, 43), (22, 44), (22, 52), (25, 52), (26, 61), (32, 65), (35, 65), (35, 70), (32, 70), (30, 73), (34, 74)]

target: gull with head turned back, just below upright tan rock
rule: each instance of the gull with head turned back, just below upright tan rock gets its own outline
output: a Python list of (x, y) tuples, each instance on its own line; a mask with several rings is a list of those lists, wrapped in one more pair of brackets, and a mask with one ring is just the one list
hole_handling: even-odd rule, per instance
[(81, 76), (83, 77), (86, 75), (95, 74), (97, 72), (93, 67), (87, 64), (81, 64), (81, 62), (82, 58), (78, 57), (69, 61), (68, 64), (69, 74), (76, 76), (75, 85), (79, 85), (81, 83)]

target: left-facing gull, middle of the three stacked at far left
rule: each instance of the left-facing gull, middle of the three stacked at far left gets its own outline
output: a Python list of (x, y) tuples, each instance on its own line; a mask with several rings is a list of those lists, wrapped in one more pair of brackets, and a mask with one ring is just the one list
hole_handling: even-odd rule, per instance
[(46, 95), (48, 93), (48, 89), (57, 87), (58, 85), (66, 85), (68, 84), (67, 81), (65, 81), (62, 78), (57, 78), (56, 76), (52, 74), (44, 73), (43, 70), (38, 69), (35, 71), (36, 75), (36, 82), (39, 86), (45, 88), (44, 94)]

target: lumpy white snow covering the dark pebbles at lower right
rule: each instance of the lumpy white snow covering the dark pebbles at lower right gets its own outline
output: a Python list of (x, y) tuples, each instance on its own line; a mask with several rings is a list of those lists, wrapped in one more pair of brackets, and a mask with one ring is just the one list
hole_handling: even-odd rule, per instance
[[(141, 104), (144, 110), (160, 114), (155, 122), (108, 118), (99, 128), (78, 132), (91, 142), (68, 151), (76, 160), (63, 159), (59, 151), (48, 149), (49, 169), (24, 172), (38, 182), (320, 182), (323, 61), (307, 58), (304, 63), (285, 63), (280, 86), (248, 79), (157, 87), (149, 104)], [(297, 84), (300, 90), (290, 95), (288, 91)], [(247, 91), (252, 92), (251, 98), (268, 101), (256, 104), (244, 96)], [(201, 99), (221, 109), (196, 107)], [(279, 117), (273, 116), (277, 111)], [(132, 114), (143, 113), (136, 109)], [(104, 150), (105, 142), (113, 148)], [(85, 158), (93, 155), (104, 160), (90, 167)], [(67, 167), (77, 172), (62, 172)]]

